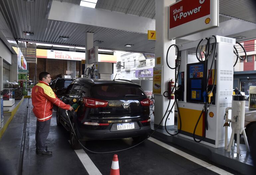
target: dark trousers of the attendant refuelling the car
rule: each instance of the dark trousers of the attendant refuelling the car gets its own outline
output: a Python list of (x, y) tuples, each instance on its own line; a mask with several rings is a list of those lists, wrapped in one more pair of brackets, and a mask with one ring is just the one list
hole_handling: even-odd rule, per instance
[(44, 151), (47, 148), (45, 141), (50, 132), (50, 124), (51, 124), (51, 119), (44, 122), (39, 122), (37, 120), (36, 149), (38, 151)]

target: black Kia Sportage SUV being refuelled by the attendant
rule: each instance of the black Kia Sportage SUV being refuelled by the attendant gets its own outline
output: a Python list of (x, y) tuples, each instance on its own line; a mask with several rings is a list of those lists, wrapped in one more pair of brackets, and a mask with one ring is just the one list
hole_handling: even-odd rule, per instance
[[(68, 114), (79, 140), (102, 140), (132, 137), (146, 138), (150, 127), (150, 100), (141, 86), (129, 80), (78, 78), (61, 100), (74, 107)], [(57, 111), (57, 125), (70, 132), (73, 149), (80, 145), (70, 128), (65, 110)]]

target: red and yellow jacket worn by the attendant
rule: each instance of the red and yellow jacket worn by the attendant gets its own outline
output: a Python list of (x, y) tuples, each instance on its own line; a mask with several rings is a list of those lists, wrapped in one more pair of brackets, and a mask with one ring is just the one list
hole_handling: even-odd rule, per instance
[(33, 112), (39, 122), (44, 122), (52, 118), (53, 105), (69, 110), (70, 105), (66, 105), (53, 92), (48, 83), (39, 81), (32, 88)]

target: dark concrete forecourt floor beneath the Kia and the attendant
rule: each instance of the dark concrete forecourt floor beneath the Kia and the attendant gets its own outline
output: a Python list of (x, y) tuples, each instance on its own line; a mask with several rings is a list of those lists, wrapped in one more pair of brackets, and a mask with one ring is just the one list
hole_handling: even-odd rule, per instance
[[(0, 139), (0, 174), (17, 174), (21, 139), (24, 126), (24, 116), (28, 99), (24, 99), (22, 105), (14, 116), (12, 122)], [(56, 113), (51, 121), (50, 134), (47, 139), (48, 149), (53, 151), (53, 155), (37, 155), (35, 152), (35, 129), (36, 118), (32, 112), (30, 100), (28, 122), (26, 130), (25, 152), (23, 160), (24, 175), (84, 175), (84, 174), (109, 174), (112, 157), (115, 153), (94, 154), (83, 149), (74, 151), (68, 142), (69, 133), (63, 127), (56, 124)], [(120, 174), (136, 175), (191, 175), (191, 174), (236, 174), (238, 172), (216, 165), (206, 157), (196, 154), (193, 151), (179, 147), (168, 142), (161, 142), (166, 145), (161, 146), (156, 141), (146, 140), (142, 144), (122, 152), (116, 152), (119, 158)], [(97, 151), (113, 151), (125, 149), (136, 142), (132, 138), (117, 140), (96, 140), (87, 141), (86, 148)], [(170, 148), (169, 148), (170, 147)], [(181, 150), (180, 153), (174, 150)], [(203, 164), (195, 163), (192, 159), (184, 157), (194, 157)], [(210, 166), (211, 165), (211, 166)], [(214, 168), (218, 173), (214, 172)], [(223, 171), (221, 171), (224, 169)], [(219, 173), (219, 172), (223, 173)]]

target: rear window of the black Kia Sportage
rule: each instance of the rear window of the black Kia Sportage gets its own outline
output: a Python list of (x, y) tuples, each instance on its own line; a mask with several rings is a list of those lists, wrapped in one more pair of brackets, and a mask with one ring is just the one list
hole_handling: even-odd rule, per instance
[(101, 84), (91, 88), (91, 95), (96, 99), (117, 100), (125, 97), (147, 98), (143, 90), (129, 84)]

